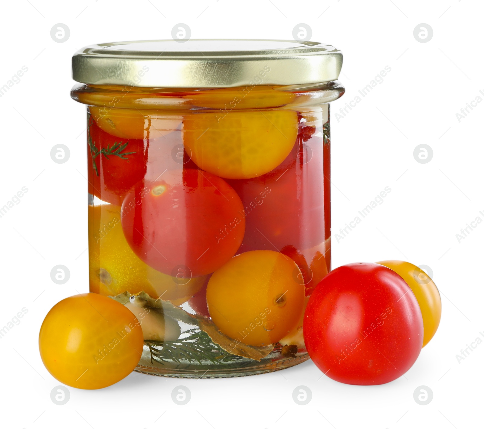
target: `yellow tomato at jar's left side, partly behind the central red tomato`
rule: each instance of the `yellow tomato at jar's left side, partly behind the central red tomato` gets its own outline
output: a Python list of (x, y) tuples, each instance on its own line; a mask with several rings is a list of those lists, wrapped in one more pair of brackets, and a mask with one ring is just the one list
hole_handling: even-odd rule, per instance
[[(89, 282), (91, 292), (118, 295), (144, 291), (152, 298), (180, 305), (200, 290), (206, 276), (172, 277), (156, 271), (129, 247), (121, 227), (121, 207), (89, 206)], [(178, 277), (178, 278), (177, 278)]]

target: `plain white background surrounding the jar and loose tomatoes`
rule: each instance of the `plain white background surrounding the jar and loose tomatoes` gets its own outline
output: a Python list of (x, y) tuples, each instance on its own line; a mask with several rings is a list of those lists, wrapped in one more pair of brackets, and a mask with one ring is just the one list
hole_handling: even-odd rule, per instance
[[(482, 426), (484, 344), (458, 363), (456, 355), (484, 332), (484, 224), (458, 243), (455, 234), (484, 219), (484, 103), (460, 122), (456, 113), (484, 91), (482, 1), (41, 1), (2, 2), (0, 86), (22, 66), (19, 83), (0, 98), (0, 206), (27, 186), (20, 203), (0, 218), (0, 325), (22, 307), (28, 313), (0, 339), (3, 428), (469, 428)], [(70, 29), (65, 43), (54, 24)], [(357, 261), (403, 259), (425, 264), (442, 296), (442, 320), (414, 366), (383, 386), (348, 386), (306, 362), (282, 372), (218, 380), (132, 373), (98, 391), (69, 388), (62, 406), (50, 399), (60, 383), (44, 368), (37, 338), (59, 300), (88, 290), (87, 184), (84, 106), (69, 98), (71, 56), (92, 43), (170, 38), (185, 23), (192, 38), (291, 39), (308, 24), (312, 40), (344, 53), (345, 96), (332, 105), (333, 233), (385, 186), (392, 191), (339, 243), (333, 268)], [(413, 29), (430, 25), (432, 40)], [(391, 72), (345, 117), (335, 113), (385, 66)], [(482, 96), (482, 94), (481, 94)], [(484, 97), (484, 96), (482, 96)], [(50, 158), (55, 144), (70, 159)], [(413, 157), (428, 144), (433, 158)], [(69, 268), (65, 285), (53, 266)], [(184, 406), (171, 400), (187, 386)], [(312, 400), (298, 405), (297, 386)], [(428, 405), (413, 399), (428, 386)]]

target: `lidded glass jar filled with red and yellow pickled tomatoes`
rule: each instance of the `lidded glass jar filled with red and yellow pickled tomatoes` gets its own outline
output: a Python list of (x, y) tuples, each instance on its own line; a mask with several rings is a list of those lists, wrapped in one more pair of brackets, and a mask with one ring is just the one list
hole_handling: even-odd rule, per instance
[(137, 371), (227, 377), (308, 358), (304, 307), (331, 269), (341, 65), (332, 46), (290, 41), (106, 43), (73, 57), (90, 290), (141, 322)]

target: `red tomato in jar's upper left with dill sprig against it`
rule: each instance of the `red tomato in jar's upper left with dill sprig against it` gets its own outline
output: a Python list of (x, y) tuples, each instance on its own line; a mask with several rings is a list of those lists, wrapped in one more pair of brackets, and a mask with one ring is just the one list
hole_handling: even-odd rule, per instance
[[(111, 204), (120, 206), (128, 190), (142, 179), (156, 180), (165, 170), (196, 167), (183, 150), (179, 130), (157, 139), (122, 139), (99, 128), (91, 116), (88, 142), (89, 138), (88, 192)], [(117, 155), (109, 155), (124, 144)]]

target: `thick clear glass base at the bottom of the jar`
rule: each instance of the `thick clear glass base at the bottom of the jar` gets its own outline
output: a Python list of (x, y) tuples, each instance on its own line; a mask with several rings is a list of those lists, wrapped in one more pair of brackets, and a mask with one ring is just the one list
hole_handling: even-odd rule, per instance
[(305, 350), (296, 353), (293, 357), (284, 357), (281, 348), (275, 348), (266, 358), (260, 361), (240, 358), (235, 362), (176, 362), (163, 359), (163, 363), (152, 358), (150, 348), (145, 344), (143, 355), (135, 368), (136, 372), (149, 375), (174, 378), (228, 378), (243, 377), (245, 375), (264, 374), (266, 372), (280, 371), (298, 365), (309, 359)]

